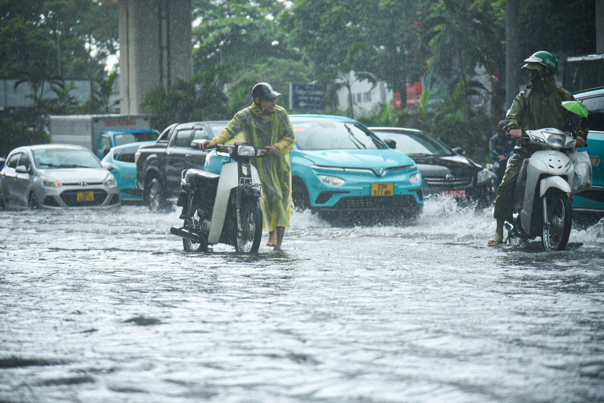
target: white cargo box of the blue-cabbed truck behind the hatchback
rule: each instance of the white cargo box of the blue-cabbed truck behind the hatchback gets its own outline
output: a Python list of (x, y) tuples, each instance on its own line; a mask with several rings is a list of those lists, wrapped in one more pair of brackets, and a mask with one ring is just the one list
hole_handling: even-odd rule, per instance
[(102, 132), (150, 128), (149, 115), (54, 115), (50, 117), (50, 142), (84, 146), (97, 155)]

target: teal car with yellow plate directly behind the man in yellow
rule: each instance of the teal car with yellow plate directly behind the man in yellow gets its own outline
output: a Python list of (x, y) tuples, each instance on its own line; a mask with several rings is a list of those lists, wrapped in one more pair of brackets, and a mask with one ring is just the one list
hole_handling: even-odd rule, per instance
[[(333, 115), (290, 115), (297, 143), (289, 154), (296, 208), (327, 219), (416, 218), (422, 175), (411, 158), (363, 124)], [(391, 143), (393, 145), (393, 143)], [(204, 169), (220, 173), (227, 159), (208, 154)]]

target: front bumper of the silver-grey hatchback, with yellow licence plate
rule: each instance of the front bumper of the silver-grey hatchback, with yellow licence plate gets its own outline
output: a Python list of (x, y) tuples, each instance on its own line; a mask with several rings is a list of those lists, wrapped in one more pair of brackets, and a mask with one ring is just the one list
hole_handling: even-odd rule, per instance
[(40, 208), (111, 208), (121, 204), (118, 185), (43, 187)]

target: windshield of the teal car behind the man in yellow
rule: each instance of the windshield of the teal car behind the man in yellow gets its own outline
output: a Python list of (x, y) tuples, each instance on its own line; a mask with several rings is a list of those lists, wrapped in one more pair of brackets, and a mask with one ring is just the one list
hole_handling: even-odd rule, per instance
[(353, 122), (317, 120), (292, 122), (300, 150), (383, 149), (386, 146)]

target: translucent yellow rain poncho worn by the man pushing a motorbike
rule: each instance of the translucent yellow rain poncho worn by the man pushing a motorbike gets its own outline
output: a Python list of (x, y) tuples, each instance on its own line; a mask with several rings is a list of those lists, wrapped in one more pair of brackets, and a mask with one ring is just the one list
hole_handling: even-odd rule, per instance
[(213, 140), (218, 144), (242, 141), (255, 147), (279, 147), (277, 155), (252, 158), (251, 163), (258, 169), (262, 182), (263, 227), (268, 231), (289, 227), (289, 217), (294, 210), (289, 150), (296, 143), (296, 136), (288, 112), (275, 105), (274, 114), (261, 116), (260, 108), (252, 104), (237, 112)]

